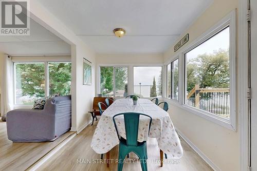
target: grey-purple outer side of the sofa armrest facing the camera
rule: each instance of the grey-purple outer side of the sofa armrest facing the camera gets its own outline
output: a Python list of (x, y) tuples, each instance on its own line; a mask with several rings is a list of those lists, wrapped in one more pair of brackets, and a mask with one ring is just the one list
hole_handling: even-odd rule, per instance
[(8, 139), (13, 142), (54, 139), (54, 115), (35, 109), (9, 111), (7, 113), (7, 134)]

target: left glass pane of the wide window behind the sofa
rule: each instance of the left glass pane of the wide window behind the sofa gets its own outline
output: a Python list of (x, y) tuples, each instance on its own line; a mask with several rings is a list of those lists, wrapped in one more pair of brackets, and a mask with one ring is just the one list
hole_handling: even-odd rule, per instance
[(15, 104), (33, 105), (45, 97), (45, 64), (14, 63)]

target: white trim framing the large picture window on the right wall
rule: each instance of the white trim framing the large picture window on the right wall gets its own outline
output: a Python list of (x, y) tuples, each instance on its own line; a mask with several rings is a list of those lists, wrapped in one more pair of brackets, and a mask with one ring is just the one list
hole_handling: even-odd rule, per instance
[[(194, 49), (196, 46), (208, 40), (210, 37), (215, 35), (217, 32), (223, 30), (229, 26), (230, 29), (230, 119), (219, 117), (213, 113), (196, 109), (184, 104), (185, 101), (185, 54), (190, 50)], [(174, 102), (172, 99), (167, 99), (171, 104), (178, 106), (184, 110), (194, 113), (197, 116), (205, 118), (216, 124), (224, 126), (230, 130), (236, 131), (237, 124), (237, 110), (236, 110), (236, 11), (233, 10), (228, 15), (226, 15), (221, 21), (216, 25), (211, 27), (208, 31), (201, 34), (196, 40), (194, 40), (189, 45), (185, 46), (174, 57), (167, 63), (172, 62), (177, 55), (179, 55), (179, 102)], [(167, 73), (166, 73), (167, 74)], [(167, 84), (167, 81), (166, 81)]]

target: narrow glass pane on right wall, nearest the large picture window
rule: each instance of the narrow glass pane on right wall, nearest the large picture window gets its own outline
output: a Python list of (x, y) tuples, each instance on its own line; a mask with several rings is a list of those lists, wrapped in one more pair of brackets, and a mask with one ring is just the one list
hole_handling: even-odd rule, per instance
[(178, 59), (172, 65), (172, 99), (178, 100)]

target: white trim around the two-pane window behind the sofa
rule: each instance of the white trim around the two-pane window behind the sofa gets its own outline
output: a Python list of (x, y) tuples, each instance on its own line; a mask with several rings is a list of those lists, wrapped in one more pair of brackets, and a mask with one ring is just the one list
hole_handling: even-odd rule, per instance
[(13, 75), (13, 107), (15, 108), (31, 108), (33, 105), (15, 104), (16, 99), (16, 71), (14, 63), (44, 63), (45, 64), (45, 96), (49, 96), (49, 75), (48, 63), (51, 62), (71, 62), (71, 56), (12, 56), (12, 75)]

